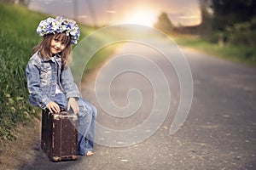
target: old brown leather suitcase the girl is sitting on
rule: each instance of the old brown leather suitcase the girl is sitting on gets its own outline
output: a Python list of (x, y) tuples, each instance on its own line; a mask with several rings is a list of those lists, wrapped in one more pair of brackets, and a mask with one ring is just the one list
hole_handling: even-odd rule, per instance
[(77, 159), (77, 115), (42, 111), (41, 148), (52, 161)]

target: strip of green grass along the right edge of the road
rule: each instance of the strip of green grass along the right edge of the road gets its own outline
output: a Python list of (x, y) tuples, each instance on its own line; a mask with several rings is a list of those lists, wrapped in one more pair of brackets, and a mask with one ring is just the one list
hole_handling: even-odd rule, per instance
[(256, 50), (247, 46), (220, 46), (217, 43), (209, 42), (206, 39), (189, 35), (172, 35), (178, 45), (199, 49), (207, 54), (230, 59), (239, 63), (256, 66)]

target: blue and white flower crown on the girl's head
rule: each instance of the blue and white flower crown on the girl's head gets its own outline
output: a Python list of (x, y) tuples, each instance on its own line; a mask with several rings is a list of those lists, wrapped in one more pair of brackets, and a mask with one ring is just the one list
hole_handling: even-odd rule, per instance
[(37, 32), (40, 37), (47, 34), (65, 32), (67, 36), (71, 36), (72, 44), (78, 43), (80, 36), (79, 26), (76, 25), (76, 22), (62, 16), (57, 16), (55, 19), (49, 17), (46, 20), (41, 20), (38, 25)]

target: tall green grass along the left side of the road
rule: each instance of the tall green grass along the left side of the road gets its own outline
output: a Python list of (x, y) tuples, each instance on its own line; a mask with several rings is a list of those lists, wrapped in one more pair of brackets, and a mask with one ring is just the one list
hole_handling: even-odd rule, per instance
[[(0, 3), (0, 141), (14, 140), (13, 133), (18, 123), (31, 123), (40, 110), (28, 104), (25, 68), (32, 56), (32, 48), (42, 40), (36, 32), (40, 20), (49, 15), (40, 14), (14, 4)], [(94, 31), (79, 24), (80, 40)], [(101, 38), (101, 37), (99, 37)], [(102, 38), (109, 38), (108, 36)], [(90, 44), (93, 45), (93, 44)], [(113, 48), (104, 56), (113, 53)], [(90, 62), (90, 71), (105, 57), (97, 53)], [(1, 145), (0, 145), (1, 148)]]

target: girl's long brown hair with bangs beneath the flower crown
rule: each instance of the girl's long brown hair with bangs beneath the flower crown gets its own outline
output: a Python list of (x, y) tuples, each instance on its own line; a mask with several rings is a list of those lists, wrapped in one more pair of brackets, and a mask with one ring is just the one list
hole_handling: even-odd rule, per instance
[(61, 51), (61, 62), (62, 68), (67, 68), (67, 65), (71, 61), (70, 52), (71, 52), (71, 37), (67, 36), (66, 33), (55, 33), (55, 34), (48, 34), (44, 36), (42, 42), (38, 43), (37, 46), (32, 48), (32, 53), (39, 52), (43, 59), (49, 59), (50, 56), (50, 42), (52, 39), (58, 39), (61, 42), (64, 42), (66, 48)]

